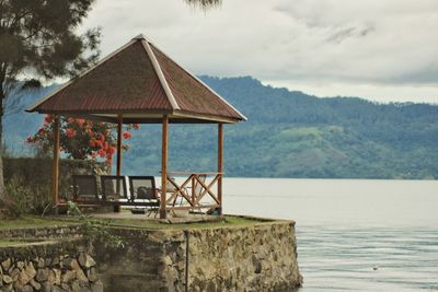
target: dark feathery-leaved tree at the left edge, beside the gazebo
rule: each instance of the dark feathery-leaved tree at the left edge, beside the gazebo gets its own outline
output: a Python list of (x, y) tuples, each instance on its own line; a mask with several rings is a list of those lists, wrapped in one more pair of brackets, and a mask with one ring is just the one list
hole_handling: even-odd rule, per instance
[[(0, 143), (7, 98), (74, 77), (99, 58), (100, 28), (78, 33), (94, 0), (0, 0)], [(19, 82), (20, 80), (20, 82)], [(4, 199), (0, 156), (0, 205)]]

